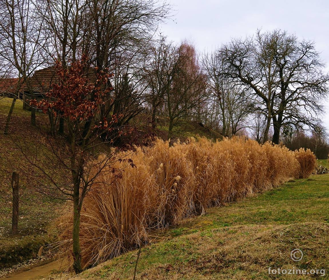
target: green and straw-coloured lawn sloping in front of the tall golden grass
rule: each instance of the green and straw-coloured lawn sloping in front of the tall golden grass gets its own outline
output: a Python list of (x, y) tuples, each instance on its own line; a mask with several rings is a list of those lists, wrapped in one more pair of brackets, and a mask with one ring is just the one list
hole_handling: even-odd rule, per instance
[[(293, 249), (302, 250), (301, 261), (291, 260)], [(314, 175), (166, 231), (142, 247), (136, 279), (329, 279), (329, 270), (268, 274), (269, 267), (329, 269), (328, 253), (329, 174)], [(126, 253), (72, 279), (133, 279), (136, 256)]]

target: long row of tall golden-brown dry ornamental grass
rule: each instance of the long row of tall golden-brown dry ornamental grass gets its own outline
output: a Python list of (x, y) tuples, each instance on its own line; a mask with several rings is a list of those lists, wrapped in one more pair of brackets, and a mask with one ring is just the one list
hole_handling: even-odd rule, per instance
[[(301, 164), (301, 151), (234, 137), (217, 142), (190, 138), (172, 146), (158, 139), (152, 147), (122, 154), (136, 167), (116, 161), (113, 167), (122, 170), (121, 176), (114, 177), (110, 170), (101, 173), (85, 198), (83, 267), (136, 248), (154, 230), (203, 214), (209, 207), (271, 189), (299, 174), (302, 165), (306, 176), (313, 157), (305, 153), (307, 160)], [(69, 212), (61, 221), (62, 238), (69, 242)]]

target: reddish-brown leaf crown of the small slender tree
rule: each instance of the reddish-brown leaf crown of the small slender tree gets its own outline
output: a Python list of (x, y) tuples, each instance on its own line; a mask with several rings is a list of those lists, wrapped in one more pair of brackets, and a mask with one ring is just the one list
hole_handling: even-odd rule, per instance
[[(72, 63), (69, 68), (63, 68), (61, 62), (56, 62), (56, 74), (59, 84), (53, 84), (52, 89), (46, 93), (47, 100), (31, 100), (31, 104), (48, 113), (52, 109), (56, 116), (60, 114), (63, 118), (71, 121), (82, 121), (93, 118), (98, 106), (104, 103), (103, 97), (112, 88), (106, 88), (111, 73), (96, 73), (96, 70), (86, 71), (87, 64), (84, 57), (81, 61)], [(89, 73), (88, 73), (89, 72)], [(92, 79), (88, 77), (92, 74)]]

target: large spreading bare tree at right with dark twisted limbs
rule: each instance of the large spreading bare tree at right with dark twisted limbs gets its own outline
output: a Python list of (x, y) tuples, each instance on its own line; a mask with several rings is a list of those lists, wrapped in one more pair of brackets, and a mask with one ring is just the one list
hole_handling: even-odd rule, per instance
[(274, 30), (245, 40), (235, 39), (219, 51), (226, 75), (253, 92), (258, 111), (266, 115), (264, 141), (273, 126), (273, 143), (279, 142), (285, 124), (313, 127), (322, 112), (329, 80), (315, 44)]

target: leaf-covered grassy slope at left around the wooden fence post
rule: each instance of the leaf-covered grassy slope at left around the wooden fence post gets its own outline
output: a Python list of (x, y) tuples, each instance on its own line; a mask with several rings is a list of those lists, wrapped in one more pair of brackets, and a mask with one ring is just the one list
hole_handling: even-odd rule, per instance
[[(23, 103), (17, 100), (10, 124), (9, 135), (3, 130), (12, 99), (0, 99), (0, 237), (11, 224), (12, 203), (12, 172), (19, 172), (20, 185), (20, 220), (21, 234), (44, 232), (44, 225), (53, 216), (52, 202), (39, 196), (38, 183), (40, 180), (33, 176), (33, 166), (22, 154), (22, 150), (31, 150), (29, 154), (38, 154), (35, 150), (42, 141), (42, 130), (30, 124), (30, 112), (23, 110)], [(42, 124), (47, 119), (37, 113), (37, 122)], [(59, 142), (58, 145), (63, 145)], [(35, 150), (35, 152), (34, 152)]]

